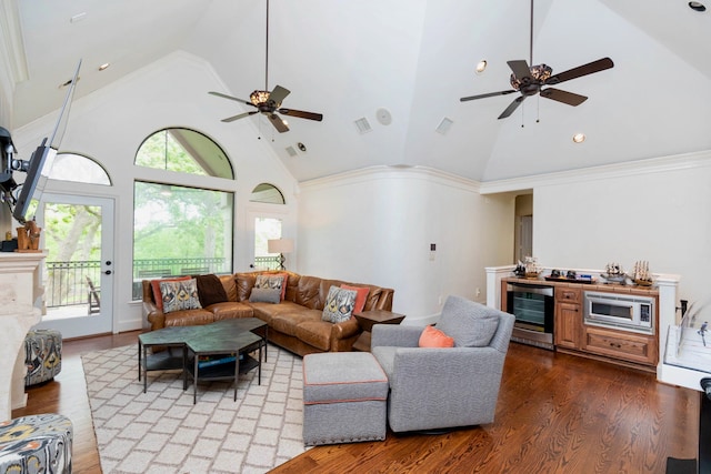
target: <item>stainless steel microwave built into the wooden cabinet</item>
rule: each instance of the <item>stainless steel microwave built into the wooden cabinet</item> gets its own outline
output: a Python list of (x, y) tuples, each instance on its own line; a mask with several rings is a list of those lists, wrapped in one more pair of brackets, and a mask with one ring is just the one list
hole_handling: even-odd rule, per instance
[(587, 291), (583, 304), (585, 324), (654, 333), (654, 297)]

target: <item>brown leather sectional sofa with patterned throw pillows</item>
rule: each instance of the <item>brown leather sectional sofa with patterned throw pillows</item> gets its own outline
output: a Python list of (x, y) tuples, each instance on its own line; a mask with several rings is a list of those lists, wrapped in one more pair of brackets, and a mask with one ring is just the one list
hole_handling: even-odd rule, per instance
[[(214, 303), (200, 310), (163, 313), (156, 305), (149, 280), (143, 280), (143, 315), (151, 330), (169, 326), (209, 324), (231, 317), (259, 317), (269, 325), (269, 341), (299, 355), (314, 352), (350, 351), (361, 334), (356, 317), (342, 323), (321, 320), (323, 303), (331, 285), (367, 286), (370, 289), (363, 311), (392, 311), (394, 291), (370, 284), (348, 283), (317, 276), (288, 273), (284, 300), (278, 304), (249, 301), (257, 275), (264, 272), (220, 275), (227, 302)], [(273, 273), (273, 272), (272, 272)]]

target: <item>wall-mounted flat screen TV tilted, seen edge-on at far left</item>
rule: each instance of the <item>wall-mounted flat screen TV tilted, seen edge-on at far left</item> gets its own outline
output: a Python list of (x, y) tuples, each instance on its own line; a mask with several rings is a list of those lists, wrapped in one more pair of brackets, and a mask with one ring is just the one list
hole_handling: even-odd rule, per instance
[[(79, 69), (81, 68), (81, 60), (77, 64), (77, 70), (69, 84), (69, 90), (64, 97), (64, 103), (59, 112), (59, 119), (49, 139), (43, 139), (42, 143), (34, 150), (32, 157), (30, 157), (29, 165), (27, 165), (27, 178), (20, 189), (20, 195), (14, 204), (12, 216), (21, 224), (24, 224), (28, 220), (28, 210), (32, 200), (39, 201), (44, 191), (44, 185), (54, 161), (57, 150), (61, 143), (64, 131), (67, 130), (67, 122), (69, 120), (69, 109), (71, 108), (71, 101), (77, 89), (77, 80), (79, 79)], [(24, 169), (24, 167), (23, 167)]]

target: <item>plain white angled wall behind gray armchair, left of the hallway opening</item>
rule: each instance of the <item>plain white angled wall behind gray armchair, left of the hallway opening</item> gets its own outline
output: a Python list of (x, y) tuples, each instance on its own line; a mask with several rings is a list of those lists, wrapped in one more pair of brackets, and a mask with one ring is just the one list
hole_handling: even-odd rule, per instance
[(300, 190), (301, 273), (392, 288), (407, 324), (432, 322), (450, 294), (485, 302), (484, 266), (511, 263), (514, 198), (473, 181), (375, 167)]

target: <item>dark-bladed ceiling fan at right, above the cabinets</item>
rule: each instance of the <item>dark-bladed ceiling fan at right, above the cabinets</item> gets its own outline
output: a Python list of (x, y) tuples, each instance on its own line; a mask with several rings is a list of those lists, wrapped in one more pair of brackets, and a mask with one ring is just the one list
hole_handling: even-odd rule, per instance
[[(605, 69), (610, 69), (614, 65), (610, 58), (602, 58), (597, 61), (569, 69), (568, 71), (559, 72), (558, 74), (553, 74), (553, 70), (545, 64), (529, 65), (529, 63), (533, 64), (533, 0), (531, 0), (531, 34), (529, 59), (529, 62), (523, 59), (507, 61), (507, 64), (509, 64), (509, 68), (511, 68), (511, 71), (513, 72), (511, 74), (510, 81), (513, 89), (499, 92), (489, 92), (479, 95), (463, 97), (460, 99), (460, 101), (465, 102), (469, 100), (484, 99), (494, 95), (507, 95), (510, 93), (520, 92), (521, 95), (515, 98), (513, 102), (511, 102), (509, 107), (507, 107), (504, 111), (501, 112), (499, 119), (505, 119), (507, 117), (511, 115), (513, 111), (521, 104), (521, 102), (525, 100), (527, 97), (535, 94), (540, 94), (540, 97), (545, 99), (552, 99), (558, 102), (567, 103), (568, 105), (577, 107), (588, 100), (588, 98), (585, 95), (567, 92), (561, 89), (555, 89), (548, 85), (557, 85), (561, 82), (570, 81), (571, 79), (604, 71)], [(547, 88), (542, 89), (543, 87)]]

